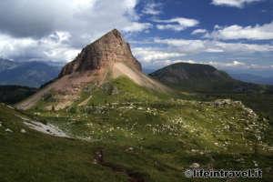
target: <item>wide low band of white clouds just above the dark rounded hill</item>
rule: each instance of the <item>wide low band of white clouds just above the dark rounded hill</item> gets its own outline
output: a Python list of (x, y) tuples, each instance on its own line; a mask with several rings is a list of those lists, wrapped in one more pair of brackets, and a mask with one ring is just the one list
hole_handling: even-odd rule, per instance
[[(137, 42), (138, 44), (136, 45), (140, 45), (140, 42)], [(260, 60), (261, 54), (270, 55), (273, 52), (273, 45), (227, 43), (206, 39), (191, 40), (157, 37), (153, 41), (149, 40), (148, 44), (145, 43), (143, 45), (142, 47), (133, 48), (132, 51), (137, 59), (144, 66), (148, 67), (160, 67), (177, 62), (187, 62), (223, 68), (258, 68), (258, 65), (247, 64), (246, 60), (263, 61)], [(195, 59), (207, 59), (207, 61), (196, 61)]]

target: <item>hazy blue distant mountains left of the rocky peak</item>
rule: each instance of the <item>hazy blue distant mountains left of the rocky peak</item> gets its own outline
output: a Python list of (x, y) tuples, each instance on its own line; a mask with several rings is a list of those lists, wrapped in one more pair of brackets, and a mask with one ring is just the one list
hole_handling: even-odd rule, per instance
[(21, 63), (0, 59), (0, 85), (39, 87), (55, 78), (59, 72), (59, 66), (44, 62)]

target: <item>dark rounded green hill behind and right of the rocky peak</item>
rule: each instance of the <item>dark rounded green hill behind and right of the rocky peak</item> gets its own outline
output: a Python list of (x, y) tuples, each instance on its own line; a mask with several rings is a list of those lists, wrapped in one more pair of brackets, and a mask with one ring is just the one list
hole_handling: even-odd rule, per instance
[[(166, 84), (189, 92), (199, 93), (263, 93), (268, 86), (241, 82), (213, 66), (177, 63), (163, 67), (150, 76)], [(270, 87), (271, 90), (272, 86)]]

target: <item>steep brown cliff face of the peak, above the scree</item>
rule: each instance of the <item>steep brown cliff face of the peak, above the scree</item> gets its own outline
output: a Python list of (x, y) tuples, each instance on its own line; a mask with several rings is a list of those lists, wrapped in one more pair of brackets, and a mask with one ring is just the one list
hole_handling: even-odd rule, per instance
[(141, 71), (141, 65), (132, 55), (130, 45), (114, 29), (94, 43), (86, 45), (82, 52), (62, 69), (59, 77), (75, 72), (97, 70), (111, 66), (116, 62), (123, 62), (131, 68)]

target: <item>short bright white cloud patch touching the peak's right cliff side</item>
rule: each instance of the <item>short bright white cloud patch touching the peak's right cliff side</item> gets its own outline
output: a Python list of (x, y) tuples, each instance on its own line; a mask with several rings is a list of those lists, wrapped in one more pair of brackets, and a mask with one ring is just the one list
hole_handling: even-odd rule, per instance
[(182, 53), (157, 50), (151, 47), (136, 47), (133, 48), (132, 51), (137, 59), (142, 62), (151, 62), (155, 60), (185, 56), (185, 54)]

